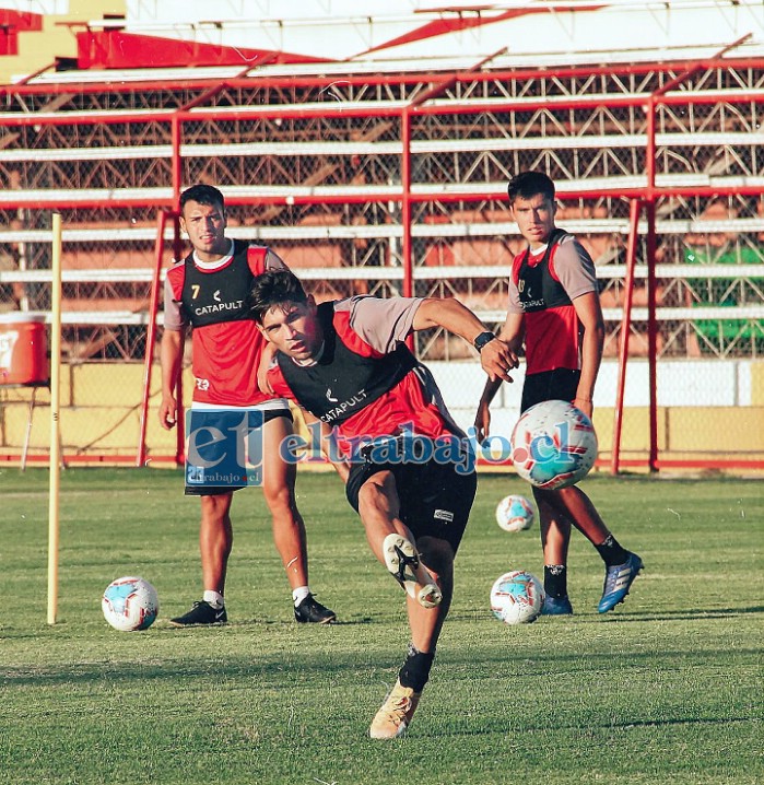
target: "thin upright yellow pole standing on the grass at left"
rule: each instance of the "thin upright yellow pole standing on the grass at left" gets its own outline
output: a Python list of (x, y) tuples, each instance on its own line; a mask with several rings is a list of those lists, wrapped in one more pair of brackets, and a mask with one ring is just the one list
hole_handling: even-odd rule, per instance
[(48, 499), (48, 624), (58, 608), (59, 484), (61, 471), (61, 214), (54, 213), (52, 278), (50, 282), (50, 464)]

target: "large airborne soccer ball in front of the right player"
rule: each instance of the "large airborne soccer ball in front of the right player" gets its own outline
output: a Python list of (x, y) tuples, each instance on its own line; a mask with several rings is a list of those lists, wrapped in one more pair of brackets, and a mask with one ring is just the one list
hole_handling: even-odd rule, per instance
[(532, 406), (512, 434), (512, 461), (531, 485), (553, 491), (574, 485), (597, 460), (591, 420), (573, 403), (548, 400)]

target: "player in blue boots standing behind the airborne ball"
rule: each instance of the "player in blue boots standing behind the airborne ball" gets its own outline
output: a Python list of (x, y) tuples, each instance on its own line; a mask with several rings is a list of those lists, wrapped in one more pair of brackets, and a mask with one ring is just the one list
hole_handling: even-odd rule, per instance
[[(528, 247), (515, 257), (509, 307), (499, 338), (520, 353), (526, 380), (520, 411), (545, 400), (573, 401), (591, 418), (595, 383), (602, 360), (604, 324), (595, 265), (578, 241), (554, 223), (554, 183), (541, 172), (522, 172), (508, 186), (509, 208)], [(489, 379), (480, 399), (478, 438), (489, 435), (489, 407), (501, 379)], [(544, 556), (543, 613), (573, 613), (567, 594), (567, 551), (575, 526), (604, 561), (599, 612), (623, 602), (642, 570), (642, 559), (619, 544), (589, 497), (576, 485), (556, 491), (533, 488)]]

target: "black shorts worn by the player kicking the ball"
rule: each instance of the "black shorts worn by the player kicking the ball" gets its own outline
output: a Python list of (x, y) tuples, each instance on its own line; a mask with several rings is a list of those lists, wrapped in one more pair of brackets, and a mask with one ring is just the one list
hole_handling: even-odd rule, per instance
[(468, 462), (458, 467), (434, 459), (425, 464), (375, 464), (368, 459), (353, 464), (345, 487), (348, 501), (357, 513), (359, 492), (364, 482), (380, 471), (390, 471), (398, 490), (400, 518), (414, 538), (446, 540), (456, 553), (478, 488), (474, 460), (465, 457)]

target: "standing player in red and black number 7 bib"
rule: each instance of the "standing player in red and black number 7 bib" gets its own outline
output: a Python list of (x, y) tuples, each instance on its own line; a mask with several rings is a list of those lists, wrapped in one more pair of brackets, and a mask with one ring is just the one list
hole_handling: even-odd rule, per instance
[[(192, 410), (254, 411), (261, 418), (262, 490), (271, 512), (275, 547), (286, 571), (298, 622), (327, 623), (334, 612), (313, 596), (308, 585), (305, 524), (294, 494), (295, 467), (281, 459), (279, 446), (292, 433), (287, 401), (258, 389), (257, 372), (265, 341), (246, 306), (249, 285), (266, 270), (284, 269), (269, 248), (225, 236), (223, 195), (197, 185), (180, 196), (180, 227), (192, 251), (167, 272), (164, 335), (161, 344), (162, 426), (174, 427), (178, 402), (175, 389), (183, 366), (186, 331), (192, 328)], [(227, 621), (224, 591), (233, 546), (231, 503), (237, 488), (187, 485), (186, 493), (201, 497), (203, 595), (186, 614), (172, 620), (177, 626), (220, 624)]]

